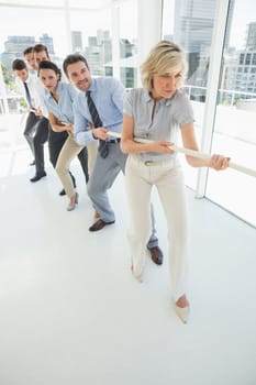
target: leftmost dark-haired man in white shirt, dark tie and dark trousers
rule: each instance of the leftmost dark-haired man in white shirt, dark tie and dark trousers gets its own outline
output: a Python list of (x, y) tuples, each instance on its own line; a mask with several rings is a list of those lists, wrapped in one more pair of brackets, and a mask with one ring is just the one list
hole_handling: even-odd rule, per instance
[(12, 69), (16, 75), (18, 85), (26, 100), (29, 116), (25, 123), (24, 136), (34, 155), (35, 176), (31, 182), (37, 182), (46, 176), (44, 169), (44, 143), (48, 138), (48, 123), (44, 117), (37, 114), (41, 100), (37, 92), (37, 78), (29, 73), (27, 66), (22, 59), (14, 59)]

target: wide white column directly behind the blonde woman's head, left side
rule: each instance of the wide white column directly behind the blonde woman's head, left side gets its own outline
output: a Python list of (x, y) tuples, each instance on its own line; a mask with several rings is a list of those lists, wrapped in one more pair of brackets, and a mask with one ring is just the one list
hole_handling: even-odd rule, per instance
[[(162, 40), (162, 13), (163, 0), (138, 0), (137, 1), (137, 65), (148, 55), (151, 48)], [(141, 76), (138, 69), (138, 86)]]

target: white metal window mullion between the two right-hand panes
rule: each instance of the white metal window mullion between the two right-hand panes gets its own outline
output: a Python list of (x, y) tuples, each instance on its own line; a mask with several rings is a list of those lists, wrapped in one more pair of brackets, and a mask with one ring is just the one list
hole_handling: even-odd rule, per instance
[[(212, 45), (210, 51), (210, 66), (207, 87), (207, 100), (203, 117), (201, 151), (211, 153), (212, 136), (214, 130), (215, 110), (219, 80), (222, 64), (222, 54), (225, 38), (225, 28), (227, 23), (230, 0), (216, 0), (216, 12), (212, 32)], [(198, 170), (196, 197), (205, 196), (209, 169), (203, 167)]]

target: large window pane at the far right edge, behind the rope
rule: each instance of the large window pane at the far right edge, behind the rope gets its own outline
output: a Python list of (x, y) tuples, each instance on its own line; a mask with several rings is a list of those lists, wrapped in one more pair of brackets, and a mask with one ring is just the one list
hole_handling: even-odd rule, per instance
[[(256, 169), (256, 4), (230, 1), (212, 152)], [(207, 196), (256, 226), (256, 179), (210, 172)]]

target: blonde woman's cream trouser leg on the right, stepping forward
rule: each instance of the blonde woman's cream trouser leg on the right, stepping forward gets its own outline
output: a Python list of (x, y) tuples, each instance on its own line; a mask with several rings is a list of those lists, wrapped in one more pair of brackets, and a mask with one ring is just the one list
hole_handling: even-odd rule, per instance
[(168, 227), (169, 268), (174, 298), (187, 293), (188, 280), (188, 215), (185, 182), (179, 165), (163, 173), (156, 187)]

